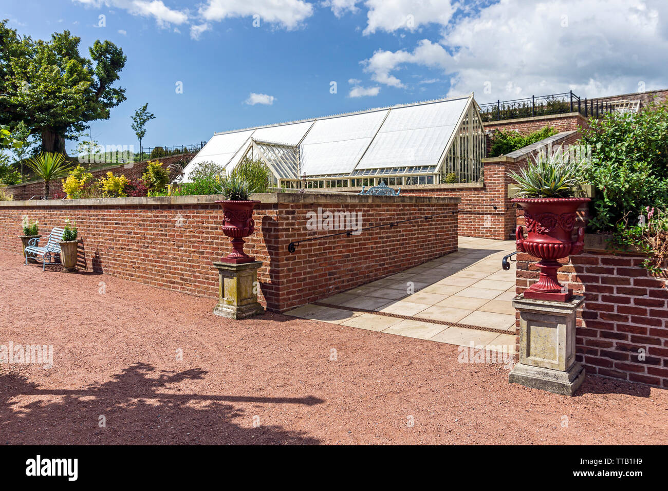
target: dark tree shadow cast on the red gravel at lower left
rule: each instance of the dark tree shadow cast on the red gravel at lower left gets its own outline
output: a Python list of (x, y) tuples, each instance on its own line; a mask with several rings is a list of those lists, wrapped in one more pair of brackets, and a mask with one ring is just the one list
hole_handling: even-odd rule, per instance
[[(315, 405), (322, 399), (188, 393), (192, 381), (206, 375), (200, 369), (158, 373), (148, 363), (136, 363), (84, 389), (47, 389), (0, 373), (0, 444), (320, 443), (304, 432), (268, 425), (261, 409), (259, 427), (253, 428), (256, 415), (232, 403)], [(161, 393), (163, 387), (178, 393)], [(14, 397), (22, 399), (18, 407), (11, 407)], [(48, 400), (53, 397), (58, 400)], [(106, 428), (100, 428), (103, 416)]]

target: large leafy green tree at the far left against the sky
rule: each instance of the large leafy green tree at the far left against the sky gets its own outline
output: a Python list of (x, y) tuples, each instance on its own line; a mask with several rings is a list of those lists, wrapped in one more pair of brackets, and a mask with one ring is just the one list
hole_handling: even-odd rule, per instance
[(0, 21), (0, 124), (24, 122), (41, 136), (43, 152), (64, 154), (65, 138), (126, 100), (114, 87), (126, 63), (122, 49), (98, 40), (89, 59), (79, 54), (80, 41), (69, 31), (35, 41)]

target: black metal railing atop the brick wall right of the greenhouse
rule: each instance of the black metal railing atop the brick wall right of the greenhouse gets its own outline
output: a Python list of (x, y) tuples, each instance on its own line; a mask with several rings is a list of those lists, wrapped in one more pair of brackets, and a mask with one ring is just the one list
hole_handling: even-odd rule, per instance
[(483, 122), (531, 118), (549, 114), (579, 112), (587, 118), (599, 118), (611, 112), (613, 105), (601, 100), (584, 100), (573, 91), (548, 96), (531, 96), (529, 98), (508, 101), (497, 100), (480, 105), (480, 116)]

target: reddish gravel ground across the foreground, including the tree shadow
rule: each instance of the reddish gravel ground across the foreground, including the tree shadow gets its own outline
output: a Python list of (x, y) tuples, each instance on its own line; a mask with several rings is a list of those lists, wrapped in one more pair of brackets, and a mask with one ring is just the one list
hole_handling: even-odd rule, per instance
[(21, 259), (0, 254), (0, 345), (53, 345), (53, 367), (0, 365), (1, 444), (668, 443), (663, 389), (591, 376), (562, 397), (456, 346), (229, 321), (212, 299)]

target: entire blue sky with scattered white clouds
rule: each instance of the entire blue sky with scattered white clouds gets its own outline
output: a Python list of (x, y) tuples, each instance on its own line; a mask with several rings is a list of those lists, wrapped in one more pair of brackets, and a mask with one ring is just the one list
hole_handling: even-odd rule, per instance
[(95, 39), (122, 47), (128, 100), (110, 120), (92, 123), (94, 139), (136, 145), (130, 116), (148, 102), (156, 120), (144, 146), (172, 146), (215, 131), (470, 92), (482, 104), (571, 89), (591, 97), (666, 88), (667, 4), (23, 0), (3, 1), (2, 11), (34, 38), (69, 29), (86, 54)]

